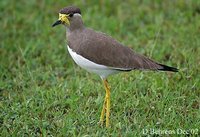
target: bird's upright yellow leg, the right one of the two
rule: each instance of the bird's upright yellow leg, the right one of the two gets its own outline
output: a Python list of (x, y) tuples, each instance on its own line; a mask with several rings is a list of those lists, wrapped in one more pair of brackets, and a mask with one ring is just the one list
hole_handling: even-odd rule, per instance
[(103, 80), (104, 87), (106, 90), (106, 127), (109, 127), (109, 117), (110, 117), (110, 87), (107, 80)]

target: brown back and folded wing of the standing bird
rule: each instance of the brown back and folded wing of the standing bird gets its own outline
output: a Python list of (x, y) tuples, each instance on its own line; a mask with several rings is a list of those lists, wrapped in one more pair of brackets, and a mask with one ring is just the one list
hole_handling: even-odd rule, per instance
[(68, 45), (84, 58), (113, 69), (164, 69), (164, 65), (135, 53), (104, 33), (91, 29), (70, 32)]

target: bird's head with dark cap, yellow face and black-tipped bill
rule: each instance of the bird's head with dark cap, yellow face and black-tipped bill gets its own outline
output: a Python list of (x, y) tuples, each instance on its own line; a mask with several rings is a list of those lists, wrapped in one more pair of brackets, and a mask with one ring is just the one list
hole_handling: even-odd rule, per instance
[(59, 24), (63, 24), (69, 27), (71, 22), (76, 18), (74, 15), (81, 16), (81, 10), (75, 6), (69, 6), (61, 9), (59, 11), (59, 18), (52, 25), (52, 27), (57, 26)]

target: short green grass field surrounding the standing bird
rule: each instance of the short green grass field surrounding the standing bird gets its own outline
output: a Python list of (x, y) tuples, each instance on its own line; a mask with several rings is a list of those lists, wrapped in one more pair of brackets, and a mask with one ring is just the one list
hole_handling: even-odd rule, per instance
[[(109, 77), (109, 129), (97, 124), (101, 79), (73, 62), (65, 28), (51, 27), (58, 11), (72, 4), (86, 26), (180, 69)], [(200, 134), (200, 1), (1, 0), (0, 9), (0, 136)]]

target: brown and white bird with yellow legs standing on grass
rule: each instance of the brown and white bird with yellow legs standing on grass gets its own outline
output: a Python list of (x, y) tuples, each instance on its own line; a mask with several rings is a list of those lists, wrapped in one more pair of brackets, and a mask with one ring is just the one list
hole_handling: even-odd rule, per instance
[(67, 49), (74, 62), (88, 72), (99, 75), (103, 81), (106, 93), (99, 123), (105, 124), (106, 128), (110, 127), (108, 76), (132, 70), (178, 72), (177, 68), (138, 54), (105, 33), (87, 28), (80, 8), (76, 6), (67, 6), (59, 11), (59, 18), (52, 27), (60, 24), (66, 28)]

